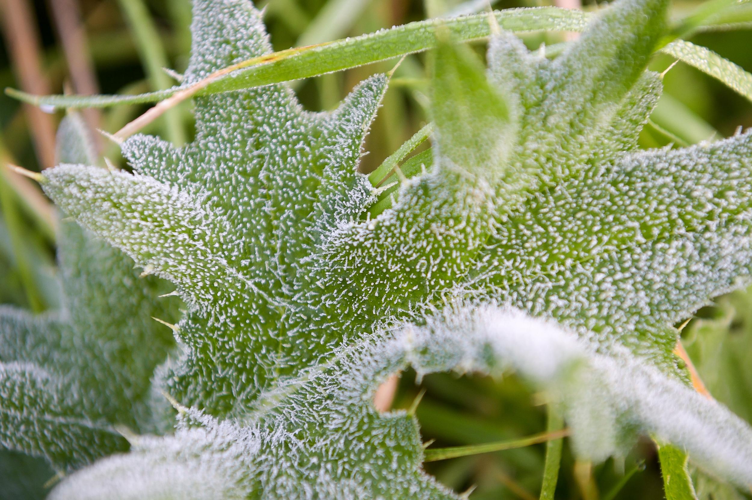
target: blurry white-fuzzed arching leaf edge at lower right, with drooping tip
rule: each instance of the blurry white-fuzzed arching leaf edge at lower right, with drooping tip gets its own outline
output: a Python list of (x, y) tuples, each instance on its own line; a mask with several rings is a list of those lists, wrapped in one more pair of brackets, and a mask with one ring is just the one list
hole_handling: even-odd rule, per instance
[[(750, 426), (626, 349), (598, 354), (596, 345), (552, 321), (493, 306), (452, 311), (426, 327), (408, 328), (399, 339), (419, 373), (453, 369), (500, 375), (511, 369), (553, 390), (562, 398), (582, 456), (601, 461), (619, 453), (616, 441), (610, 449), (601, 447), (608, 441), (596, 443), (592, 434), (615, 432), (625, 423), (615, 421), (620, 418), (684, 448), (707, 471), (740, 486), (752, 483)], [(591, 385), (581, 385), (583, 377)], [(590, 397), (594, 387), (601, 397)]]

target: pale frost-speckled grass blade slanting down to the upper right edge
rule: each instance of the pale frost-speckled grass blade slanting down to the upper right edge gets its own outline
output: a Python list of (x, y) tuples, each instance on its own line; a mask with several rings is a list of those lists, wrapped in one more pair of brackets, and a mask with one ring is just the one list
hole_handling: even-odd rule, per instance
[(717, 78), (752, 101), (752, 74), (712, 50), (688, 41), (677, 40), (663, 47), (663, 52)]

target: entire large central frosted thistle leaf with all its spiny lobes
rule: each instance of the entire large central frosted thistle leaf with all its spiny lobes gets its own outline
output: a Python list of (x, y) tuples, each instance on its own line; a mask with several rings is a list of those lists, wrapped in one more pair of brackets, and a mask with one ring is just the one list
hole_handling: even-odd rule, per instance
[[(156, 498), (161, 481), (199, 481), (202, 498), (454, 498), (420, 471), (414, 419), (372, 408), (407, 364), (517, 370), (564, 405), (581, 456), (639, 429), (752, 481), (752, 432), (685, 387), (672, 354), (672, 324), (750, 274), (752, 134), (637, 151), (666, 3), (615, 2), (553, 60), (502, 33), (487, 71), (442, 39), (432, 167), (375, 218), (356, 167), (381, 75), (332, 113), (284, 84), (197, 98), (190, 145), (123, 144), (133, 174), (45, 172), (66, 212), (177, 285), (184, 354), (161, 384), (195, 408), (195, 426), (56, 498)], [(194, 11), (187, 82), (270, 50), (250, 3)]]

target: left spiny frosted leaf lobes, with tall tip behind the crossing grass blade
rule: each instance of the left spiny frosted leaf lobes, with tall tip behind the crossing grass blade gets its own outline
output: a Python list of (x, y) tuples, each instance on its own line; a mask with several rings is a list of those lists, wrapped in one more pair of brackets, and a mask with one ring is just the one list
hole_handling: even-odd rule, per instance
[[(187, 80), (269, 52), (249, 2), (194, 8)], [(192, 306), (178, 332), (185, 363), (166, 381), (181, 402), (242, 411), (341, 342), (331, 323), (348, 318), (329, 318), (304, 293), (317, 287), (304, 258), (371, 199), (356, 167), (386, 85), (371, 77), (332, 113), (305, 112), (286, 85), (197, 98), (193, 143), (124, 143), (134, 176), (72, 165), (49, 173), (47, 192), (68, 213)]]

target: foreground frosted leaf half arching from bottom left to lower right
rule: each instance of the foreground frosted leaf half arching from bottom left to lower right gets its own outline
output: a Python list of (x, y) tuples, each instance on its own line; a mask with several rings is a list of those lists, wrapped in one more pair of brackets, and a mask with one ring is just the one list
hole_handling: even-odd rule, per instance
[[(621, 429), (638, 426), (684, 447), (708, 471), (742, 484), (752, 479), (752, 429), (691, 387), (624, 349), (597, 354), (577, 333), (517, 309), (455, 306), (421, 327), (399, 326), (341, 351), (304, 378), (265, 393), (265, 409), (243, 423), (186, 411), (182, 425), (190, 423), (189, 430), (142, 438), (147, 446), (140, 438), (135, 453), (74, 474), (52, 498), (111, 498), (111, 492), (161, 498), (155, 492), (163, 485), (194, 483), (186, 474), (196, 462), (204, 466), (199, 477), (226, 478), (199, 486), (205, 498), (459, 498), (420, 470), (414, 417), (378, 414), (371, 403), (378, 385), (408, 365), (419, 375), (517, 372), (562, 404), (584, 458), (620, 453)], [(174, 466), (162, 468), (165, 463)], [(148, 489), (152, 468), (164, 475)]]

